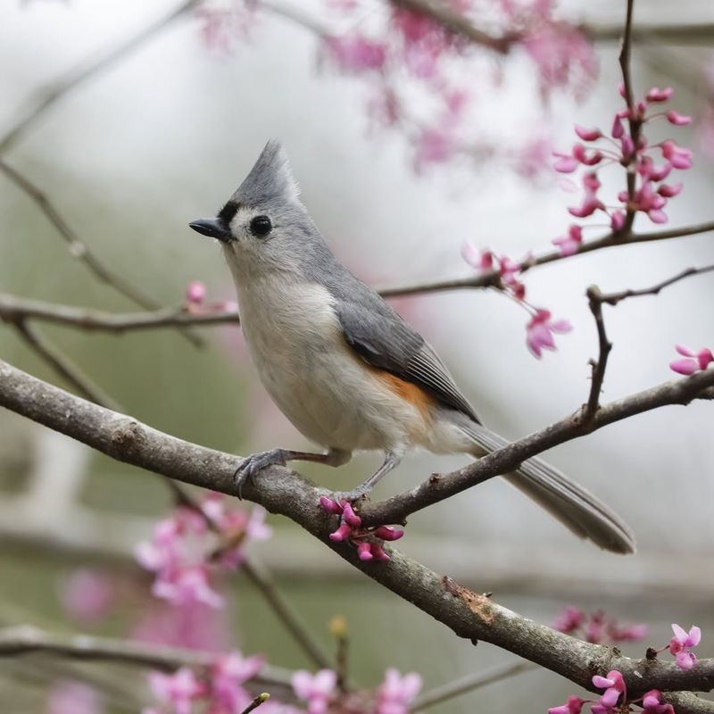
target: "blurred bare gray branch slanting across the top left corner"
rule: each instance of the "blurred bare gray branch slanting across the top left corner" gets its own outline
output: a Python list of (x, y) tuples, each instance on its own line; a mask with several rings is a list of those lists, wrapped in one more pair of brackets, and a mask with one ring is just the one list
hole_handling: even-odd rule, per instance
[(0, 155), (6, 154), (13, 145), (17, 144), (30, 127), (64, 96), (70, 94), (71, 91), (82, 85), (87, 79), (96, 77), (103, 71), (110, 69), (117, 62), (125, 59), (129, 54), (136, 52), (139, 47), (153, 39), (163, 29), (167, 28), (171, 22), (181, 17), (194, 5), (195, 0), (187, 0), (187, 2), (179, 4), (174, 10), (163, 15), (119, 45), (112, 47), (111, 50), (97, 59), (81, 63), (75, 69), (67, 72), (64, 77), (56, 79), (51, 85), (42, 89), (30, 102), (29, 108), (23, 112), (21, 119), (14, 124), (4, 137), (0, 138)]

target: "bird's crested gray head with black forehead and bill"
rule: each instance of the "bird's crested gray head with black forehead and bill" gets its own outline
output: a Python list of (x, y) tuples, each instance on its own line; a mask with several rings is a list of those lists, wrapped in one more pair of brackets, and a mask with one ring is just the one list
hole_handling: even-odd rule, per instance
[(237, 278), (270, 272), (302, 272), (313, 260), (325, 261), (329, 250), (307, 210), (283, 147), (268, 142), (253, 169), (215, 218), (189, 226), (220, 240), (228, 266)]

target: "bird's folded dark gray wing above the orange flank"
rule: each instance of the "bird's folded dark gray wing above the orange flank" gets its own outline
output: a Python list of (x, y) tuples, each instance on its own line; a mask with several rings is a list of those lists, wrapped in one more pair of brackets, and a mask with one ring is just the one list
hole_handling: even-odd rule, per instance
[(342, 299), (335, 306), (347, 345), (372, 366), (420, 386), (480, 423), (434, 348), (377, 294), (362, 295), (367, 299), (360, 303)]

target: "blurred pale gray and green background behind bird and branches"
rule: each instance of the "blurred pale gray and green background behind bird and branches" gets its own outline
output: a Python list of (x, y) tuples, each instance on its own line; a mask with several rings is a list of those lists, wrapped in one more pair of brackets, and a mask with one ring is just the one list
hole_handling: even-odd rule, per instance
[[(466, 241), (518, 259), (549, 249), (552, 238), (565, 232), (572, 220), (566, 207), (578, 197), (564, 191), (549, 168), (550, 149), (569, 150), (574, 123), (610, 129), (621, 108), (616, 41), (595, 43), (599, 71), (589, 70), (577, 87), (556, 87), (545, 99), (543, 78), (525, 53), (452, 58), (441, 71), (469, 96), (469, 113), (458, 138), (448, 144), (442, 137), (439, 144), (424, 129), (428, 120), (438, 120), (434, 85), (394, 76), (395, 83), (403, 81), (400, 87), (411, 81), (403, 97), (419, 118), (386, 126), (375, 109), (376, 97), (384, 98), (382, 79), (349, 71), (316, 32), (378, 30), (386, 22), (379, 3), (357, 15), (349, 3), (256, 5), (254, 13), (242, 5), (179, 13), (103, 71), (77, 82), (4, 152), (3, 161), (51, 200), (114, 273), (165, 306), (179, 308), (192, 280), (206, 285), (209, 303), (233, 300), (218, 247), (187, 222), (220, 207), (270, 137), (286, 146), (303, 202), (338, 257), (375, 286), (468, 277), (473, 270), (460, 254)], [(46, 97), (56, 79), (91, 66), (175, 7), (159, 0), (5, 2), (0, 135)], [(617, 29), (624, 14), (624, 3), (615, 0), (569, 0), (560, 7), (563, 18), (591, 28)], [(651, 141), (672, 136), (694, 151), (693, 169), (680, 177), (685, 190), (668, 207), (672, 227), (714, 219), (706, 123), (714, 101), (714, 35), (706, 35), (712, 23), (714, 7), (705, 0), (635, 6), (635, 25), (701, 28), (674, 41), (643, 37), (634, 48), (636, 92), (671, 85), (672, 106), (696, 119), (682, 129), (664, 123), (647, 129)], [(612, 169), (601, 179), (603, 193), (615, 195), (619, 172)], [(0, 187), (0, 292), (104, 311), (137, 310), (71, 254), (37, 203), (6, 174)], [(640, 216), (635, 228), (657, 227)], [(557, 352), (540, 361), (525, 346), (526, 312), (494, 291), (419, 295), (394, 305), (443, 355), (486, 424), (515, 438), (563, 418), (586, 399), (587, 362), (597, 349), (586, 286), (651, 286), (713, 258), (712, 234), (705, 233), (588, 253), (528, 272), (529, 299), (573, 326), (558, 337)], [(668, 362), (677, 357), (675, 344), (714, 346), (711, 285), (710, 278), (697, 277), (656, 298), (606, 308), (615, 346), (604, 401), (672, 378)], [(122, 410), (155, 428), (242, 454), (308, 445), (270, 403), (235, 326), (200, 328), (201, 348), (175, 329), (105, 335), (35, 326)], [(0, 325), (0, 356), (67, 386), (10, 325)], [(635, 556), (578, 542), (497, 479), (415, 514), (400, 545), (429, 568), (478, 592), (494, 592), (498, 602), (540, 621), (552, 621), (570, 604), (646, 623), (650, 634), (644, 643), (624, 645), (627, 653), (668, 643), (669, 624), (678, 622), (702, 627), (699, 653), (712, 656), (711, 424), (710, 403), (669, 407), (548, 454), (627, 517), (639, 545)], [(415, 455), (379, 486), (376, 497), (464, 462)], [(378, 456), (365, 455), (337, 471), (308, 464), (298, 469), (321, 485), (346, 489), (377, 463)], [(124, 636), (154, 618), (150, 579), (133, 552), (170, 509), (170, 493), (158, 477), (3, 411), (0, 486), (3, 625)], [(353, 633), (353, 677), (361, 685), (377, 685), (385, 668), (396, 667), (419, 672), (428, 689), (514, 659), (490, 645), (474, 648), (459, 640), (298, 527), (268, 520), (274, 535), (256, 544), (255, 556), (326, 646), (328, 620), (345, 615)], [(68, 587), (78, 569), (112, 592), (102, 617), (78, 620), (72, 614)], [(229, 607), (211, 627), (228, 643), (261, 652), (275, 665), (308, 666), (250, 583), (237, 575), (225, 588)], [(150, 702), (137, 669), (119, 673), (106, 665), (79, 668), (33, 657), (0, 660), (2, 709), (59, 711), (51, 709), (48, 693), (67, 678), (94, 685), (106, 711), (139, 710)], [(130, 696), (117, 695), (117, 689), (129, 689)], [(544, 711), (574, 690), (535, 671), (433, 710)]]

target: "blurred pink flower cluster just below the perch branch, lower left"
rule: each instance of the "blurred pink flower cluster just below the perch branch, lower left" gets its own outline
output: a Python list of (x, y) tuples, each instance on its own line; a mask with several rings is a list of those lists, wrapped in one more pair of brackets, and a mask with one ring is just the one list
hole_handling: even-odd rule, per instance
[[(156, 574), (152, 593), (174, 604), (203, 602), (213, 608), (223, 599), (212, 587), (216, 571), (235, 568), (243, 546), (270, 537), (265, 511), (228, 511), (221, 494), (208, 494), (202, 512), (179, 506), (154, 527), (150, 543), (137, 546), (137, 560)], [(211, 524), (211, 525), (210, 525)]]

